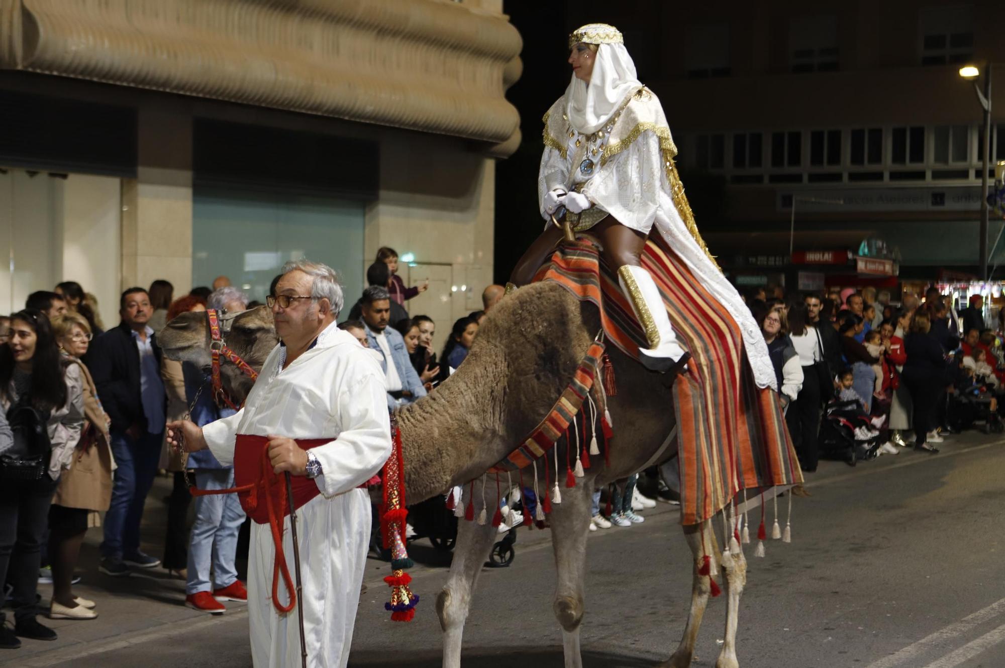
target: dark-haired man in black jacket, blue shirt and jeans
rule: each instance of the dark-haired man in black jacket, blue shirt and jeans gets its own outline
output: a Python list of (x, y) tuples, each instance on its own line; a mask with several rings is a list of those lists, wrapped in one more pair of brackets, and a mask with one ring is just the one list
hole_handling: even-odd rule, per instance
[(99, 567), (111, 576), (129, 575), (129, 566), (161, 564), (140, 550), (140, 521), (161, 457), (166, 402), (161, 349), (147, 324), (154, 312), (150, 296), (143, 288), (130, 288), (119, 306), (122, 323), (94, 339), (84, 358), (112, 418), (112, 451), (118, 464)]

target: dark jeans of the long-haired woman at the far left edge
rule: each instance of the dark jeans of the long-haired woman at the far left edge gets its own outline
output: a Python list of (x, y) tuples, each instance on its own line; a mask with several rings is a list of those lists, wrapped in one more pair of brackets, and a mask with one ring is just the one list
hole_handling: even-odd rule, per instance
[(0, 483), (0, 585), (13, 587), (9, 603), (16, 620), (34, 618), (37, 612), (39, 550), (57, 484), (47, 472), (37, 480)]

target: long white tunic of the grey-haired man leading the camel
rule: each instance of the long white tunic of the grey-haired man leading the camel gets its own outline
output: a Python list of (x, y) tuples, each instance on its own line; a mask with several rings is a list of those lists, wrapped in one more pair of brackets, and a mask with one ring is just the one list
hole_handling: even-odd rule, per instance
[[(244, 408), (206, 425), (203, 435), (224, 465), (233, 461), (237, 434), (338, 438), (312, 450), (324, 470), (316, 479), (322, 494), (296, 512), (296, 531), (308, 665), (344, 668), (370, 542), (370, 498), (358, 487), (391, 454), (384, 373), (367, 349), (334, 323), (282, 369), (284, 359), (285, 350), (276, 346)], [(286, 518), (282, 549), (292, 577), (288, 527)], [(255, 668), (300, 665), (296, 610), (279, 615), (272, 606), (273, 557), (268, 525), (252, 524), (248, 616)], [(288, 601), (281, 584), (279, 601)]]

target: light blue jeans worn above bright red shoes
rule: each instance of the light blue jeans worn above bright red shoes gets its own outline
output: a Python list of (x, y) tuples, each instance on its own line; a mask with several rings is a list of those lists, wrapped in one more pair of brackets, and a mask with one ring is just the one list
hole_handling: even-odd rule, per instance
[[(226, 489), (234, 486), (233, 468), (196, 468), (195, 486)], [(244, 511), (236, 493), (195, 496), (195, 523), (189, 539), (186, 594), (211, 592), (234, 584), (237, 569), (237, 533), (244, 523)], [(213, 569), (210, 586), (210, 567)]]

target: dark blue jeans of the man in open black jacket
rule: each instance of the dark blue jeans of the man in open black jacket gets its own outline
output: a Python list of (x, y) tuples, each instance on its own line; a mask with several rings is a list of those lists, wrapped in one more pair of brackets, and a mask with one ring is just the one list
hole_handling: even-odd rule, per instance
[(143, 505), (157, 475), (163, 435), (145, 432), (134, 440), (124, 431), (112, 432), (112, 453), (118, 468), (112, 482), (112, 503), (105, 515), (103, 557), (122, 559), (140, 552)]

